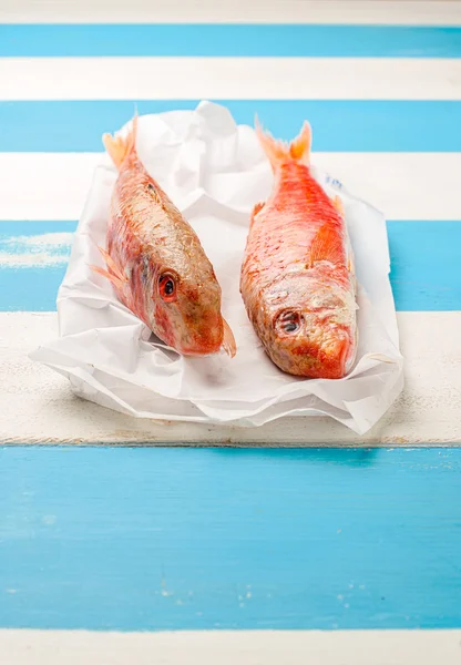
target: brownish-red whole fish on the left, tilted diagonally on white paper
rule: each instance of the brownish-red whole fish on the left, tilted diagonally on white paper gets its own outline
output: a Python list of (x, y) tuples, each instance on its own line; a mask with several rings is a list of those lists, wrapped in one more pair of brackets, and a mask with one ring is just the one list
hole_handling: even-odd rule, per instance
[(222, 315), (222, 289), (198, 236), (136, 151), (137, 112), (125, 137), (103, 135), (117, 168), (106, 247), (99, 250), (120, 301), (184, 356), (236, 354)]

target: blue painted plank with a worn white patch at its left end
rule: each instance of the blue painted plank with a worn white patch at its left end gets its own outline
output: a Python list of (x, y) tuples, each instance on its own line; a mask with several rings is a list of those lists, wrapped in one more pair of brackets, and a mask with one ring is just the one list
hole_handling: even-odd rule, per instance
[[(0, 311), (55, 310), (75, 227), (0, 222)], [(388, 237), (396, 308), (461, 310), (461, 223), (388, 222)]]

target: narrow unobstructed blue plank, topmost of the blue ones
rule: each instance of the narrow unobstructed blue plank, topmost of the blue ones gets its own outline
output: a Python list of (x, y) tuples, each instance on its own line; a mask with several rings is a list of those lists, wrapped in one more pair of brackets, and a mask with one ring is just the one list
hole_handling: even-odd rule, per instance
[(339, 24), (3, 24), (0, 55), (459, 58), (461, 29)]

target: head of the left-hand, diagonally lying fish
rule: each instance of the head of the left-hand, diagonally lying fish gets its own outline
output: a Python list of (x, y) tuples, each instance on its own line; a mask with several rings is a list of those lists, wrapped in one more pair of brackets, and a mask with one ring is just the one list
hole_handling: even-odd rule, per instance
[(211, 265), (178, 262), (157, 272), (154, 319), (157, 335), (184, 356), (208, 356), (222, 348), (230, 356), (235, 342), (221, 313), (222, 293)]

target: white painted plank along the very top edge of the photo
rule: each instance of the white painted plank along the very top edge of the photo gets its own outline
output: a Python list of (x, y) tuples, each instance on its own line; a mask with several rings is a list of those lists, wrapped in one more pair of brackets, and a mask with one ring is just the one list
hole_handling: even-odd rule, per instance
[(453, 0), (3, 0), (1, 22), (461, 25)]

